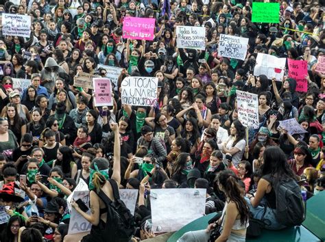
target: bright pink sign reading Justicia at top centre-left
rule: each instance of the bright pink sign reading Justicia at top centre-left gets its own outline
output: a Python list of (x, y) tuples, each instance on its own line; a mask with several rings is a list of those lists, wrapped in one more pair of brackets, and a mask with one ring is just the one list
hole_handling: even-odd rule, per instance
[(125, 17), (123, 19), (123, 38), (154, 40), (154, 25), (154, 18)]

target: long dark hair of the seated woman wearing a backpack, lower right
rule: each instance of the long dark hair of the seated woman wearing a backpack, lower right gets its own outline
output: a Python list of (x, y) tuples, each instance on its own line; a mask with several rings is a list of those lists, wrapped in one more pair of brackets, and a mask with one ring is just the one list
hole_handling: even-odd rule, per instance
[(278, 146), (269, 146), (263, 154), (264, 163), (261, 167), (261, 176), (272, 175), (280, 178), (293, 178), (294, 174), (289, 167), (285, 152)]

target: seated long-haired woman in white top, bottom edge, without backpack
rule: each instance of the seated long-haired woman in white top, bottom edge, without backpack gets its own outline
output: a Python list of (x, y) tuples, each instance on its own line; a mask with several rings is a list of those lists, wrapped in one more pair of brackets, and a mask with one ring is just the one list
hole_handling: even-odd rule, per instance
[(243, 198), (243, 189), (239, 185), (239, 178), (234, 176), (233, 172), (224, 170), (217, 176), (217, 185), (226, 196), (226, 204), (221, 217), (214, 223), (209, 224), (206, 230), (186, 232), (178, 240), (179, 242), (208, 241), (210, 232), (217, 225), (221, 225), (219, 228), (220, 236), (215, 241), (245, 241), (250, 209)]

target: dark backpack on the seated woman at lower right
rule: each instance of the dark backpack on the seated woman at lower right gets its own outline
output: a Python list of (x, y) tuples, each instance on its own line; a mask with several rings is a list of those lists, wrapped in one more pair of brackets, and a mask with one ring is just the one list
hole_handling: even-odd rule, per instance
[(272, 183), (276, 194), (276, 219), (285, 226), (300, 226), (305, 219), (301, 189), (293, 178)]

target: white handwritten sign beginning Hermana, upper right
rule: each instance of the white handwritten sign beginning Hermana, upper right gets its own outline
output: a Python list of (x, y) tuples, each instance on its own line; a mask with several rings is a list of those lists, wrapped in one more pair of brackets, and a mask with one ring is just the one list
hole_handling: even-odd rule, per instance
[(245, 60), (248, 38), (220, 35), (219, 56)]

